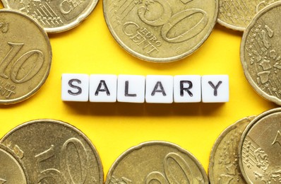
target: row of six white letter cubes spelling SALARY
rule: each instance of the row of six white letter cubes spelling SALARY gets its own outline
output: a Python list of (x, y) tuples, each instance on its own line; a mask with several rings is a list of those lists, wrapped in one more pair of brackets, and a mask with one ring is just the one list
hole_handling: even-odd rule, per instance
[(125, 103), (225, 103), (227, 75), (62, 74), (61, 100)]

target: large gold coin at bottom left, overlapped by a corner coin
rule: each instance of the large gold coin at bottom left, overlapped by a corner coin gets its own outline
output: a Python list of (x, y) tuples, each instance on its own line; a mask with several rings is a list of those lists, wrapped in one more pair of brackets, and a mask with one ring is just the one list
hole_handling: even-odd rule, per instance
[(30, 183), (103, 183), (102, 164), (95, 146), (66, 122), (25, 122), (0, 142), (16, 153)]

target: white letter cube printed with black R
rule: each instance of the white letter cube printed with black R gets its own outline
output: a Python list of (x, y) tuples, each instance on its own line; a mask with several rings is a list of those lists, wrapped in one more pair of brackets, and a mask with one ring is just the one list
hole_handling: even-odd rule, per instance
[(200, 75), (174, 76), (174, 102), (175, 103), (201, 102), (201, 76)]

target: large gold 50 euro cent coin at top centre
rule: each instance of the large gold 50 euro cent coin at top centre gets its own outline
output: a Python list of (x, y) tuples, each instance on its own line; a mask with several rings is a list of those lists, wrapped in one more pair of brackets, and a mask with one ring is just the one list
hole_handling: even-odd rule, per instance
[(104, 0), (104, 18), (126, 51), (151, 62), (195, 52), (217, 21), (217, 0)]

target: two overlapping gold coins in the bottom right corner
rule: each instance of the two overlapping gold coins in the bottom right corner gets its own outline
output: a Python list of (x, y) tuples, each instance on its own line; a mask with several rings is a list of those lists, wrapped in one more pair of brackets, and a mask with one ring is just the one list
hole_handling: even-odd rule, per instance
[(281, 108), (239, 120), (217, 138), (210, 183), (280, 183)]

